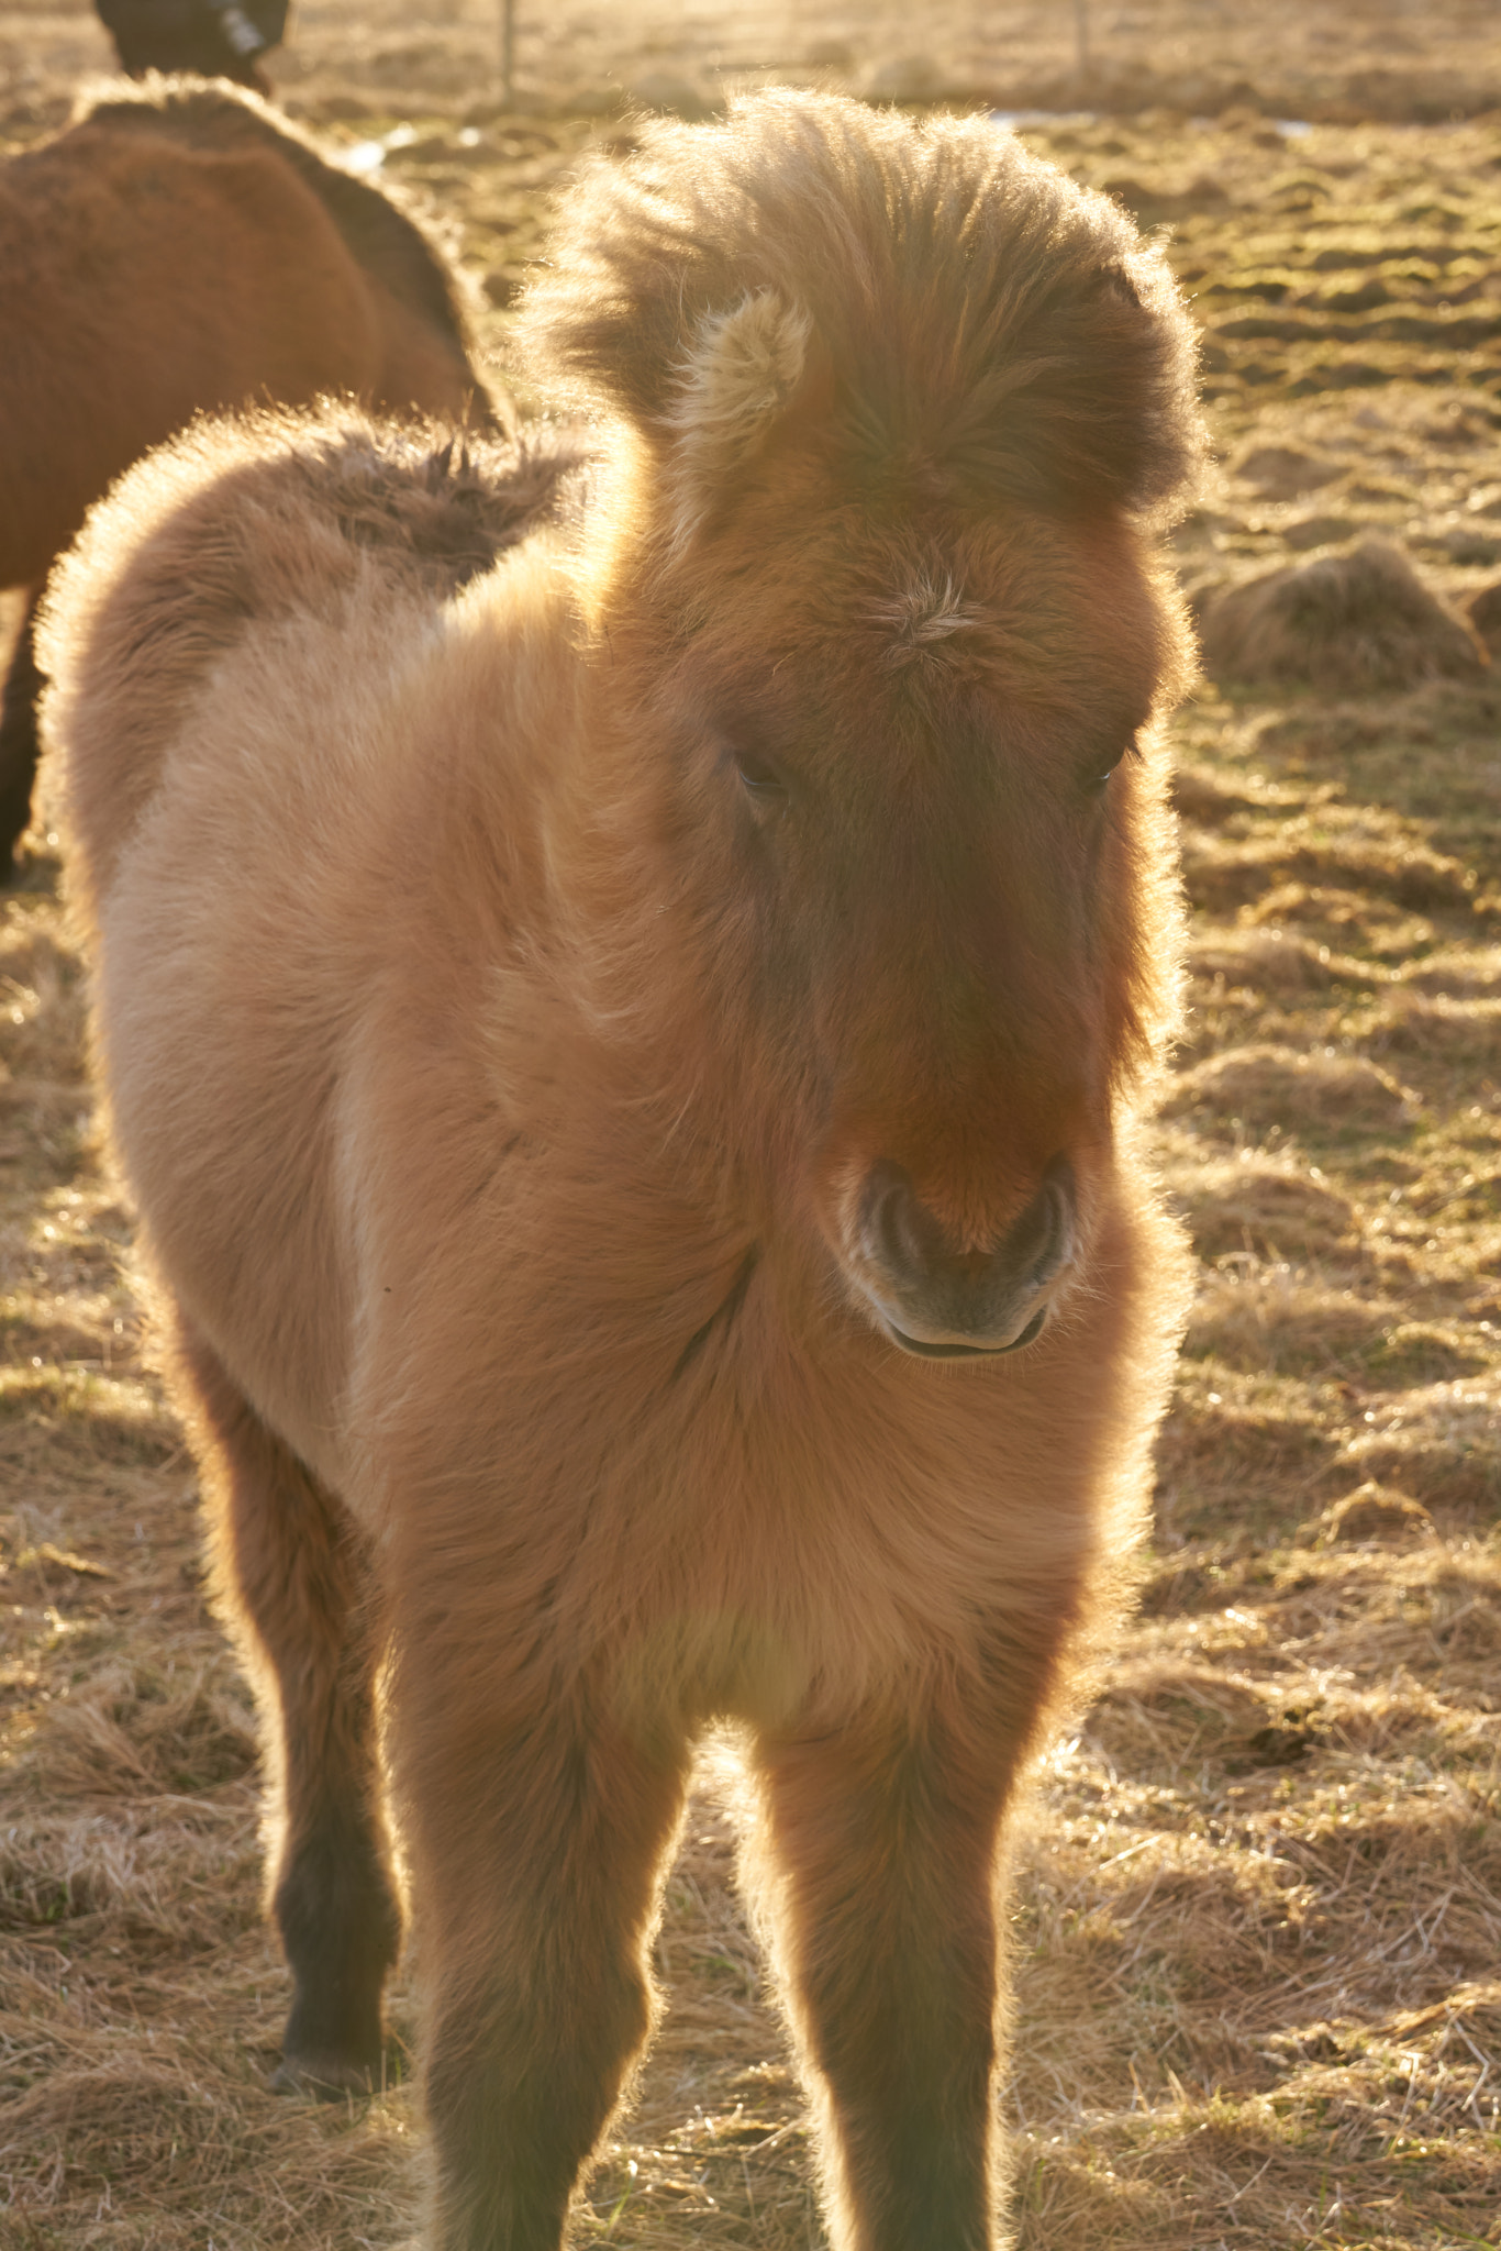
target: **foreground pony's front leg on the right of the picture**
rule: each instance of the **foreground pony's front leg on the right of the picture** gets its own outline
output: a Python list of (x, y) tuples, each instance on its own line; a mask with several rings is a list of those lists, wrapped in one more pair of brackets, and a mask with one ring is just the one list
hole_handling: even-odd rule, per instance
[(1026, 1718), (934, 1700), (758, 1747), (758, 1873), (837, 2251), (1001, 2242), (997, 1855)]

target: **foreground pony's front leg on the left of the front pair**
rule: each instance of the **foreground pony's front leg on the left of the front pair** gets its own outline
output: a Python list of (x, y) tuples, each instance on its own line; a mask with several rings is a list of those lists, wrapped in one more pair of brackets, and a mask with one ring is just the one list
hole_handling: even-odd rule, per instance
[(558, 2251), (650, 2030), (648, 1947), (686, 1756), (590, 1706), (578, 1686), (513, 1702), (484, 1666), (432, 1648), (401, 1659), (432, 2251)]

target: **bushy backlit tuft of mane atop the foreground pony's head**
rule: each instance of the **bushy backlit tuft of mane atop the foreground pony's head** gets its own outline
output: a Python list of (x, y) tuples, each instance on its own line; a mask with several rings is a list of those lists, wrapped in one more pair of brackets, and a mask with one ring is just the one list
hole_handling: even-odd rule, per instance
[(799, 396), (866, 509), (1161, 515), (1197, 464), (1195, 342), (1161, 248), (986, 119), (914, 133), (781, 92), (716, 128), (646, 126), (572, 198), (522, 326), (554, 380), (666, 446), (695, 340), (774, 302), (810, 329)]

